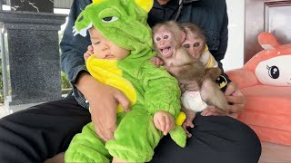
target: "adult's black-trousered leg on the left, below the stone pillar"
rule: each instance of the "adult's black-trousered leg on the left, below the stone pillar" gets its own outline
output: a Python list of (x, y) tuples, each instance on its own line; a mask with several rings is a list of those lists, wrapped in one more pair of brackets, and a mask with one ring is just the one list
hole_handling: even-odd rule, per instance
[(42, 162), (67, 149), (91, 121), (74, 97), (47, 102), (0, 119), (0, 162)]

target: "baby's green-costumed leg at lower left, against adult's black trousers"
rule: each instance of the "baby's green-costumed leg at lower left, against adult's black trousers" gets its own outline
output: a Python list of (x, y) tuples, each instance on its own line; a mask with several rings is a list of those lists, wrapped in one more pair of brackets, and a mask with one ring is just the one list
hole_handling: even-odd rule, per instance
[(93, 122), (75, 135), (65, 151), (65, 162), (110, 162), (111, 158), (105, 142), (95, 133)]

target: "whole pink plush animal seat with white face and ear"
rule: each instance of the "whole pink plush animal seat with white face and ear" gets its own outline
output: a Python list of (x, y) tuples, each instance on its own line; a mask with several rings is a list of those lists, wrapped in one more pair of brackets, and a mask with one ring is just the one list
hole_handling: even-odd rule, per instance
[(259, 139), (291, 145), (291, 43), (279, 44), (273, 34), (258, 35), (263, 50), (246, 64), (226, 72), (246, 96), (238, 115)]

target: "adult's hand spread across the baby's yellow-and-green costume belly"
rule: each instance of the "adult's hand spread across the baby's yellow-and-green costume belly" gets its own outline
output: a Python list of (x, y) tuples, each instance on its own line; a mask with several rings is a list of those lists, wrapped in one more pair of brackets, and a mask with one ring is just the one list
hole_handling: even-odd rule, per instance
[(91, 119), (95, 131), (105, 141), (114, 138), (116, 129), (116, 108), (120, 103), (124, 110), (129, 110), (130, 101), (118, 89), (97, 82), (89, 73), (79, 75), (75, 87), (81, 91), (89, 101)]

